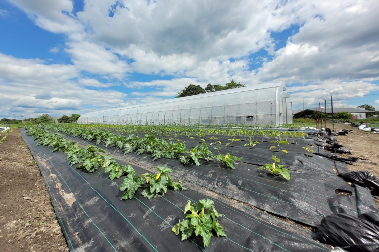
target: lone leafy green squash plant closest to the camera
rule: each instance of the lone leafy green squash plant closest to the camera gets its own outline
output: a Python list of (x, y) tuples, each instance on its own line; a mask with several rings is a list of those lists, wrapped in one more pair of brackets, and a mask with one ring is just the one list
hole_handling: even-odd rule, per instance
[(185, 219), (175, 224), (172, 231), (178, 235), (181, 232), (181, 240), (188, 239), (193, 233), (196, 236), (200, 235), (203, 238), (204, 247), (209, 245), (212, 237), (212, 230), (218, 237), (226, 236), (224, 228), (218, 222), (217, 217), (224, 216), (217, 212), (214, 207), (214, 202), (210, 199), (199, 200), (199, 203), (187, 201), (185, 205), (184, 214), (190, 212)]

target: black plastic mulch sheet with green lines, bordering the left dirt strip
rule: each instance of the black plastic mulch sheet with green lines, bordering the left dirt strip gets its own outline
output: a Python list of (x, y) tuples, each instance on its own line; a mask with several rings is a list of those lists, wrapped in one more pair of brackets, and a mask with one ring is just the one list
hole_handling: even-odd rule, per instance
[[(312, 232), (264, 216), (239, 205), (234, 208), (223, 197), (212, 198), (189, 188), (168, 191), (162, 197), (148, 200), (137, 193), (132, 200), (120, 201), (122, 178), (111, 181), (102, 170), (86, 173), (75, 169), (62, 152), (36, 146), (33, 137), (23, 131), (51, 196), (52, 203), (70, 250), (108, 251), (312, 251), (328, 248), (312, 239)], [(119, 160), (120, 164), (126, 164)], [(147, 170), (133, 166), (137, 173)], [(191, 184), (183, 183), (191, 186)], [(195, 186), (196, 187), (196, 186)], [(72, 195), (70, 195), (72, 194)], [(74, 202), (70, 197), (74, 197)], [(72, 197), (71, 197), (72, 198)], [(204, 249), (202, 240), (181, 241), (172, 226), (183, 219), (187, 200), (211, 198), (228, 237), (212, 237)], [(226, 203), (225, 203), (226, 202)], [(270, 224), (272, 223), (272, 224)], [(279, 227), (280, 226), (280, 227)]]

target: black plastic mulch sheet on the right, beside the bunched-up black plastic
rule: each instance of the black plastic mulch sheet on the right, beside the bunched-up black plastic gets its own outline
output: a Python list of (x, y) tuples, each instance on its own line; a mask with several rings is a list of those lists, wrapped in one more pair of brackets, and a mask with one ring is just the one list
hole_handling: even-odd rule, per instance
[[(303, 147), (317, 139), (313, 136), (311, 138), (297, 140), (297, 144), (284, 145), (283, 148), (288, 153), (270, 150), (273, 143), (267, 138), (264, 139), (266, 142), (261, 141), (263, 144), (257, 144), (254, 149), (243, 146), (242, 142), (235, 142), (233, 147), (221, 147), (220, 152), (223, 154), (229, 152), (242, 157), (242, 162), (235, 162), (235, 170), (222, 166), (216, 160), (203, 162), (201, 166), (184, 166), (178, 159), (161, 158), (153, 162), (148, 154), (129, 153), (124, 156), (122, 151), (115, 148), (105, 148), (101, 144), (100, 147), (112, 151), (111, 155), (117, 155), (119, 159), (144, 163), (146, 167), (167, 165), (174, 170), (173, 176), (180, 180), (313, 227), (318, 227), (322, 218), (330, 214), (346, 213), (358, 216), (377, 211), (369, 190), (360, 186), (352, 187), (337, 176), (337, 172), (347, 171), (344, 163), (317, 155), (305, 155)], [(80, 138), (71, 139), (83, 144), (93, 144)], [(208, 138), (204, 139), (209, 141)], [(198, 144), (196, 140), (186, 143), (187, 148)], [(208, 146), (215, 152), (209, 142)], [(323, 150), (319, 148), (318, 151)], [(280, 164), (285, 164), (290, 170), (289, 181), (281, 176), (270, 176), (267, 171), (258, 169), (260, 165), (272, 163), (272, 155), (279, 157)]]

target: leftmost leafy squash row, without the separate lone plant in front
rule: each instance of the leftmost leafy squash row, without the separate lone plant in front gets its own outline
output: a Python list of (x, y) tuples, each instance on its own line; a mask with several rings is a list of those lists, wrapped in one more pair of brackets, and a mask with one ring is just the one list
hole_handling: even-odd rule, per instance
[(169, 177), (171, 169), (167, 167), (156, 166), (160, 173), (149, 174), (145, 173), (136, 176), (136, 173), (131, 165), (120, 166), (116, 160), (105, 153), (104, 150), (89, 145), (86, 148), (79, 147), (74, 141), (65, 139), (61, 134), (52, 134), (48, 131), (36, 129), (34, 127), (27, 128), (28, 135), (35, 137), (38, 140), (37, 145), (53, 147), (53, 151), (62, 151), (66, 153), (66, 159), (70, 159), (70, 165), (79, 164), (78, 169), (85, 169), (87, 172), (94, 172), (99, 167), (105, 168), (104, 172), (109, 172), (111, 180), (126, 176), (121, 185), (123, 192), (122, 199), (132, 199), (138, 188), (143, 184), (148, 184), (144, 188), (142, 195), (147, 198), (157, 197), (158, 194), (164, 195), (167, 192), (167, 187), (174, 190), (183, 189), (180, 183), (174, 183)]

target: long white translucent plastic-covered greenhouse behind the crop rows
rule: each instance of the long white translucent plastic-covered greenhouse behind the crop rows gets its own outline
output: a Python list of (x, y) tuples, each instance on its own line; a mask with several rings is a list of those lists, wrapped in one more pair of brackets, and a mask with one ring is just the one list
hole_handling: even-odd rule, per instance
[(90, 112), (79, 124), (245, 124), (292, 123), (291, 97), (284, 82), (222, 90)]

